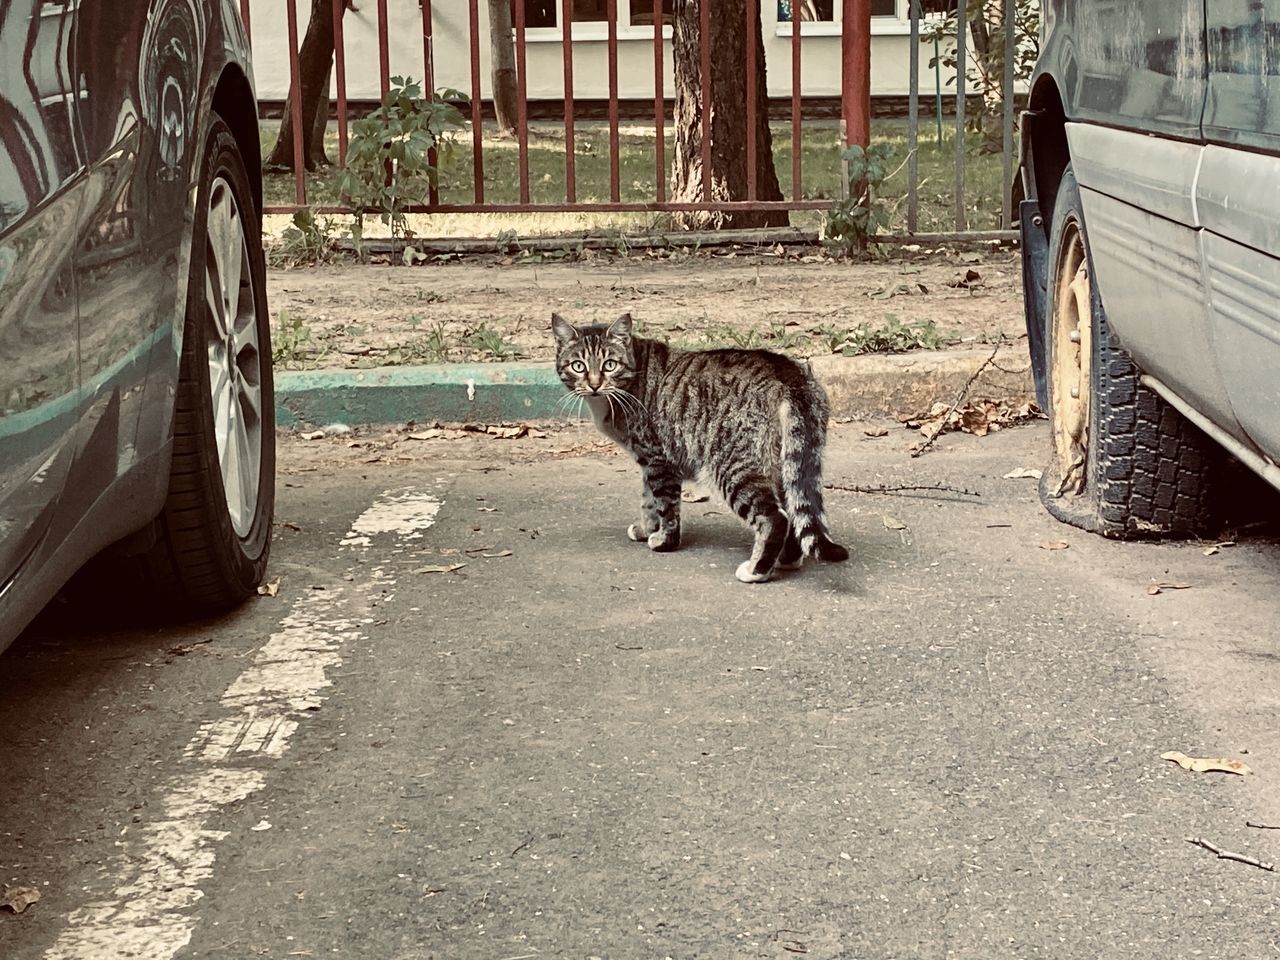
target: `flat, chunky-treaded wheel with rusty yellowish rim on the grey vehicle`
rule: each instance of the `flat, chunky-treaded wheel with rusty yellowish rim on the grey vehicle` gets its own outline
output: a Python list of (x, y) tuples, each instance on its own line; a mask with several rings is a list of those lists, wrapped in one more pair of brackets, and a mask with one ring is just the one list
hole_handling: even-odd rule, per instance
[(1211, 522), (1225, 454), (1160, 394), (1107, 324), (1075, 173), (1066, 168), (1050, 229), (1044, 332), (1052, 461), (1041, 499), (1061, 521), (1105, 536), (1194, 535)]

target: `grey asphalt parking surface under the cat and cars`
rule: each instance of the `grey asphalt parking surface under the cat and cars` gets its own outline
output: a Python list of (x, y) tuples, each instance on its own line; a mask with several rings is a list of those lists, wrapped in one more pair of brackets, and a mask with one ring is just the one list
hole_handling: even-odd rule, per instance
[(1280, 955), (1280, 876), (1187, 842), (1280, 860), (1280, 543), (1060, 526), (1041, 426), (908, 442), (828, 481), (979, 495), (833, 492), (854, 558), (756, 586), (563, 435), (285, 443), (276, 596), (0, 657), (0, 957)]

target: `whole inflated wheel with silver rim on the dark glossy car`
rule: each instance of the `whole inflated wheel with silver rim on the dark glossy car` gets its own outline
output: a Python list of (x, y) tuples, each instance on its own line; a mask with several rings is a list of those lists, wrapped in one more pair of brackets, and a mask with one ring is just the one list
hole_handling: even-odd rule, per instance
[(275, 504), (275, 403), (266, 268), (248, 174), (230, 128), (205, 140), (152, 596), (183, 613), (227, 609), (262, 581)]

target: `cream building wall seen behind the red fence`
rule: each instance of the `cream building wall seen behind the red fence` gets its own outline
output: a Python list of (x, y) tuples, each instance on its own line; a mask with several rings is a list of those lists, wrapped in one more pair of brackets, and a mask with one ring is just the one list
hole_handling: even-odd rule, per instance
[[(634, 0), (641, 3), (641, 0)], [(838, 6), (838, 0), (836, 6)], [(289, 86), (288, 32), (283, 0), (252, 0), (250, 23), (257, 96), (283, 100)], [(347, 51), (347, 96), (379, 99), (378, 6), (362, 0), (343, 19)], [(435, 86), (470, 93), (471, 59), (468, 4), (466, 0), (433, 3)], [(778, 22), (776, 3), (762, 0), (762, 29), (771, 96), (791, 93), (791, 23)], [(906, 0), (897, 1), (906, 10)], [(306, 29), (310, 4), (298, 0), (298, 32)], [(877, 17), (872, 26), (872, 95), (906, 95), (909, 84), (909, 23), (900, 17)], [(422, 20), (415, 0), (389, 0), (388, 49), (392, 76), (422, 77)], [(608, 45), (604, 24), (573, 24), (573, 95), (608, 97)], [(664, 92), (673, 96), (671, 40), (663, 44)], [(618, 95), (623, 100), (652, 100), (654, 93), (653, 32), (649, 27), (623, 27), (618, 35)], [(480, 84), (489, 97), (488, 4), (480, 3)], [(801, 92), (805, 96), (840, 95), (840, 24), (801, 24)], [(563, 99), (563, 60), (558, 29), (529, 31), (527, 83), (530, 100)], [(920, 50), (920, 91), (932, 93), (934, 77), (928, 68), (932, 51)], [(943, 78), (945, 79), (945, 78)], [(946, 88), (945, 88), (946, 90)], [(954, 87), (952, 87), (954, 90)]]

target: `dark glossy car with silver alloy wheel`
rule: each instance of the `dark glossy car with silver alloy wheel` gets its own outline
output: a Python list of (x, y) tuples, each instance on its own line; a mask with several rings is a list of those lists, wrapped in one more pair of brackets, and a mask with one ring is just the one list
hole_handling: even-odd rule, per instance
[(232, 3), (0, 3), (0, 649), (96, 554), (175, 609), (260, 582), (259, 157)]

